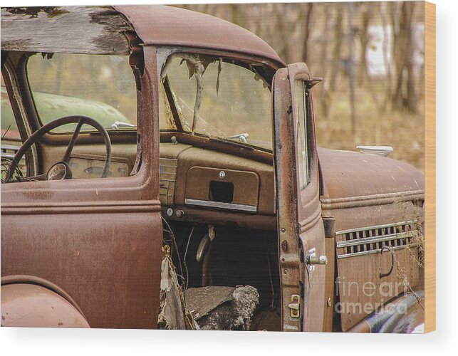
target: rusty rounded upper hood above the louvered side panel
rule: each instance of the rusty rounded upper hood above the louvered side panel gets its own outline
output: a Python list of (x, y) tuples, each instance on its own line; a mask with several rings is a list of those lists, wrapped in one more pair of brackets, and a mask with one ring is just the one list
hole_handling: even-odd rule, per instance
[(359, 152), (318, 149), (329, 199), (422, 193), (425, 178), (405, 162)]

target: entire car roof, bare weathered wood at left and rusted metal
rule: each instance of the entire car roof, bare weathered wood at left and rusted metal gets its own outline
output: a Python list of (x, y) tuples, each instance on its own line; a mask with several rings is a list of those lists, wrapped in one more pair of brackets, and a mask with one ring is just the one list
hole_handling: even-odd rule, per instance
[(130, 53), (125, 34), (145, 45), (244, 53), (284, 66), (266, 42), (214, 16), (172, 6), (58, 6), (1, 9), (1, 49), (43, 53)]

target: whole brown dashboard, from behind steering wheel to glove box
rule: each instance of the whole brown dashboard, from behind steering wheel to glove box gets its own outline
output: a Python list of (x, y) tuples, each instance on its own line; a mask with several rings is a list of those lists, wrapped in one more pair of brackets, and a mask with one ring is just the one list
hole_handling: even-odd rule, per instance
[[(43, 151), (45, 171), (65, 149)], [(127, 177), (135, 157), (135, 145), (113, 145), (108, 177)], [(103, 145), (75, 147), (69, 161), (74, 179), (98, 178), (104, 164)], [(271, 163), (251, 157), (160, 142), (160, 202), (163, 216), (169, 219), (274, 229), (274, 169)]]

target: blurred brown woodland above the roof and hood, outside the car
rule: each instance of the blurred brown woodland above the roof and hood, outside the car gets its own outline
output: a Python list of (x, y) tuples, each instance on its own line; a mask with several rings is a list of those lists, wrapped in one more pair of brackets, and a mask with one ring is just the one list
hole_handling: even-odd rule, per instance
[(422, 2), (178, 6), (236, 23), (324, 78), (313, 88), (319, 147), (388, 145), (423, 170)]

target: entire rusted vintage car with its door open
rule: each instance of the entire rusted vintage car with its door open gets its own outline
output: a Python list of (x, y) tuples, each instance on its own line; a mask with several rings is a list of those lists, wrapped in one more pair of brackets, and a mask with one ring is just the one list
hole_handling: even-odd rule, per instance
[[(423, 175), (318, 149), (319, 80), (304, 63), (286, 66), (249, 31), (167, 6), (4, 8), (1, 30), (2, 117), (5, 90), (17, 125), (2, 122), (2, 325), (157, 328), (164, 244), (184, 288), (254, 286), (251, 330), (421, 325)], [(131, 70), (136, 120), (118, 121), (116, 108), (107, 127), (109, 109), (97, 120), (85, 98), (88, 118), (55, 87), (73, 88), (82, 71), (46, 78), (110, 56)], [(117, 78), (113, 68), (91, 72), (94, 83)], [(238, 74), (248, 79), (232, 83)], [(63, 117), (46, 113), (59, 105)], [(260, 117), (249, 133), (237, 131), (242, 111)], [(19, 320), (26, 310), (41, 311)]]

